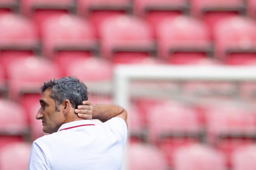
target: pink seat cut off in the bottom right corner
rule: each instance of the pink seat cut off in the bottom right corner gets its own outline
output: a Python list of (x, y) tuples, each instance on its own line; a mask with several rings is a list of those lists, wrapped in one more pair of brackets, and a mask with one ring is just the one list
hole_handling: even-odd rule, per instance
[(232, 155), (234, 170), (254, 170), (256, 169), (256, 146), (250, 145), (239, 148)]

